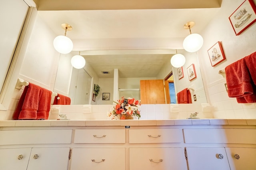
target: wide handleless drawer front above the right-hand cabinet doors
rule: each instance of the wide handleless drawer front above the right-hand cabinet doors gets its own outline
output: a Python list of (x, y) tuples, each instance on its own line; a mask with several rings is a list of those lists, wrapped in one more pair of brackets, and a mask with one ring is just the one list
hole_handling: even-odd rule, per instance
[(185, 143), (256, 144), (256, 129), (184, 129)]

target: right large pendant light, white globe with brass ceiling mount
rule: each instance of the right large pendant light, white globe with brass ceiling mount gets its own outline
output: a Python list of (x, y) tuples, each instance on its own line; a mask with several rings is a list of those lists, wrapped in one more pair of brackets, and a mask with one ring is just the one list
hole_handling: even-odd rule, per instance
[(195, 25), (194, 21), (187, 22), (184, 24), (185, 29), (189, 29), (190, 34), (183, 41), (183, 48), (187, 52), (198, 51), (204, 43), (204, 39), (199, 34), (192, 34), (191, 28)]

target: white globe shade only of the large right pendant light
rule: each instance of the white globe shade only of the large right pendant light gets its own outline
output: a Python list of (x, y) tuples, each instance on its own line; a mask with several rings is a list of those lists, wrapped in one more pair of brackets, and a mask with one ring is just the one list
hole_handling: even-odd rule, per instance
[(204, 40), (199, 34), (190, 34), (183, 41), (183, 48), (187, 52), (196, 52), (203, 46)]

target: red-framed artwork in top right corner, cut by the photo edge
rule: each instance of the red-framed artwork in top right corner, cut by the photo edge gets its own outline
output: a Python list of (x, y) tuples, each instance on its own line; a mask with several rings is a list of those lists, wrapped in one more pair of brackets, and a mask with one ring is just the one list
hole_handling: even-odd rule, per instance
[(245, 0), (229, 17), (238, 36), (256, 21), (256, 6), (253, 0)]

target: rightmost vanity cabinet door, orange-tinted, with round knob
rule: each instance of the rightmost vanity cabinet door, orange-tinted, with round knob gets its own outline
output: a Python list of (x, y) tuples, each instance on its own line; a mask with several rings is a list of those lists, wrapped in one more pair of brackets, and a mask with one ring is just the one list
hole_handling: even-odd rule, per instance
[(256, 148), (226, 148), (231, 170), (255, 170)]

